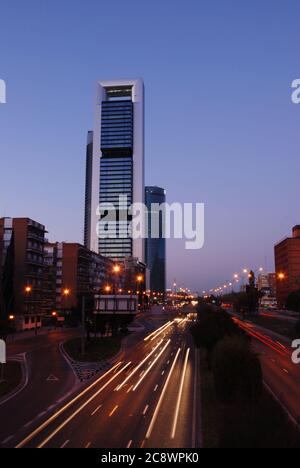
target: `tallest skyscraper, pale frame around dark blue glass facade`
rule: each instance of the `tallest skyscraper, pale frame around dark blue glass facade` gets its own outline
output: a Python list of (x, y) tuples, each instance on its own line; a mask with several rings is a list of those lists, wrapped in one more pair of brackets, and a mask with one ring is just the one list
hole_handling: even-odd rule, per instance
[[(144, 203), (145, 197), (144, 85), (141, 79), (97, 83), (95, 126), (92, 137), (89, 135), (85, 245), (116, 261), (136, 257), (144, 262), (144, 239), (126, 237), (124, 233), (130, 232), (131, 221), (130, 217), (127, 222), (123, 221), (121, 216), (132, 203)], [(126, 197), (121, 207), (119, 197)], [(116, 238), (97, 235), (99, 203), (114, 204), (118, 208)]]

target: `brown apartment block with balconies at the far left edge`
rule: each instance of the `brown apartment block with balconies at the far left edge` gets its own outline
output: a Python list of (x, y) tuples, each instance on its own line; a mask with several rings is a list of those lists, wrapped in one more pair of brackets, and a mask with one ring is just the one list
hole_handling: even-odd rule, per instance
[(29, 218), (0, 219), (1, 316), (18, 330), (41, 326), (45, 233)]

